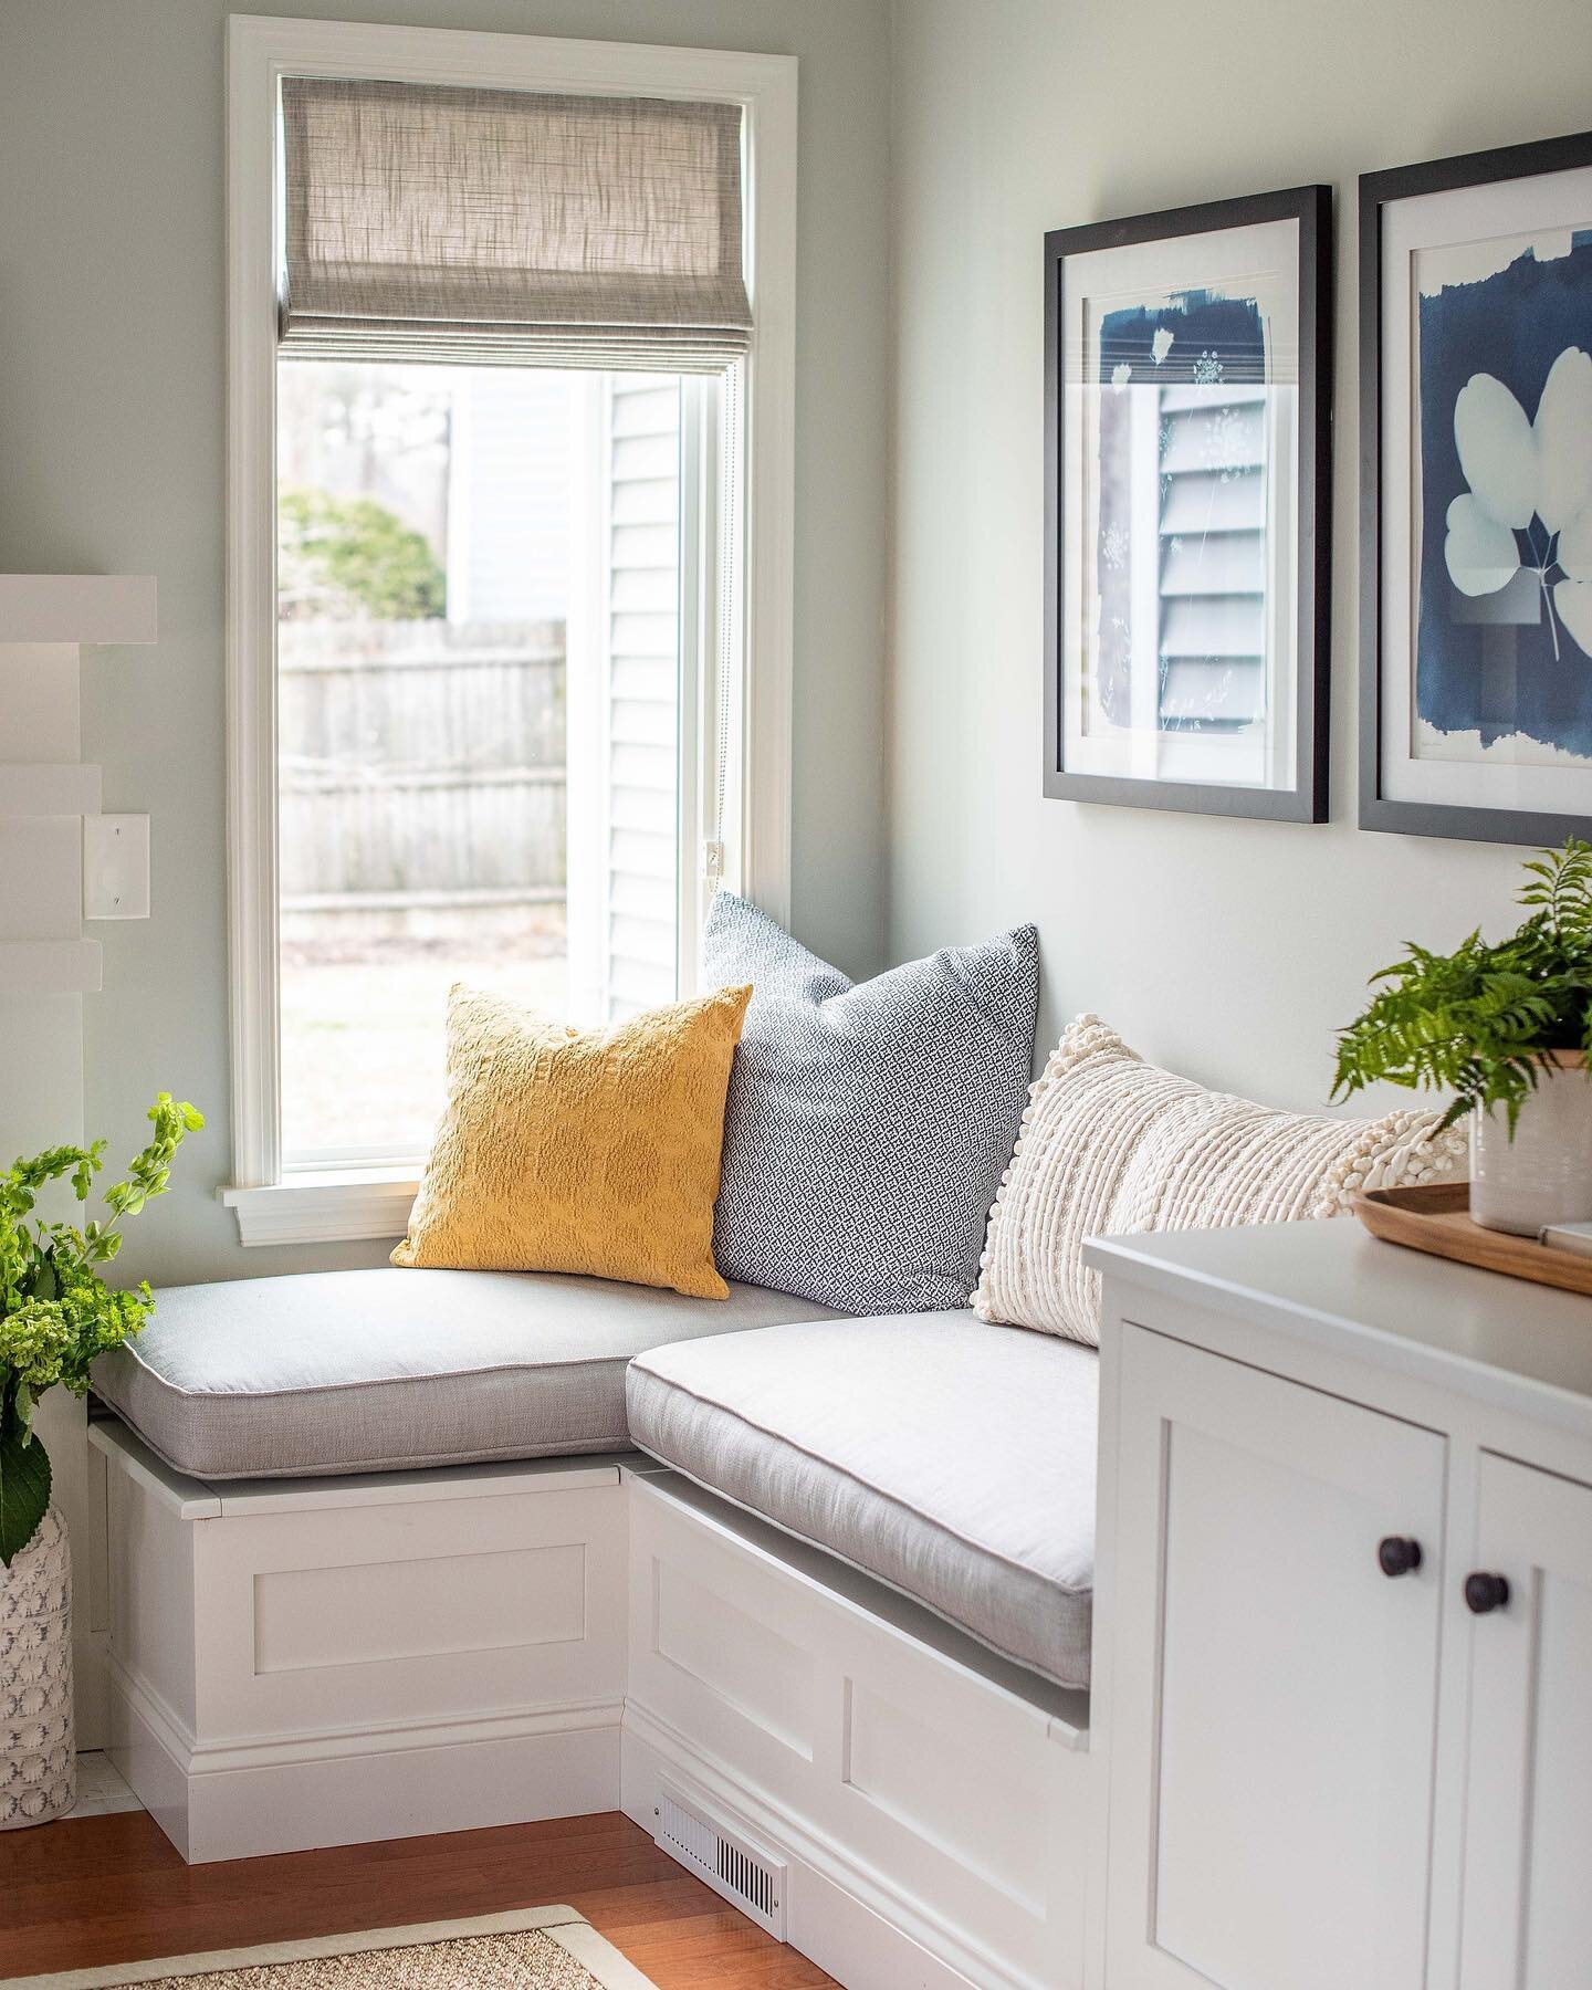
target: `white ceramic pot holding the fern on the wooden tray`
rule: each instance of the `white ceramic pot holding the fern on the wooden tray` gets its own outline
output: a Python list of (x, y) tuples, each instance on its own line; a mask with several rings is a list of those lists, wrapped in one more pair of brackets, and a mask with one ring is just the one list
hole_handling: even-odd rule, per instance
[(1592, 1222), (1592, 1081), (1580, 1051), (1550, 1057), (1514, 1140), (1502, 1106), (1471, 1114), (1471, 1216), (1487, 1230)]

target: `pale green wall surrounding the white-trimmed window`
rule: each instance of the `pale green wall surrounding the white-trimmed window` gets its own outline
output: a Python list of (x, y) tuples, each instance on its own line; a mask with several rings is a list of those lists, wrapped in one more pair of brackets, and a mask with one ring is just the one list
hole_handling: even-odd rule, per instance
[[(153, 917), (103, 927), (88, 1124), (157, 1087), (211, 1124), (129, 1250), (155, 1280), (338, 1262), (243, 1252), (229, 1174), (223, 816), (225, 0), (0, 0), (0, 569), (155, 573), (161, 641), (86, 663), (105, 806), (153, 816)], [(888, 0), (322, 0), (267, 8), (792, 54), (800, 72), (794, 923), (882, 935)], [(0, 758), (4, 750), (0, 748)], [(26, 1045), (4, 1045), (4, 1059)], [(4, 1069), (0, 1069), (0, 1087)]]

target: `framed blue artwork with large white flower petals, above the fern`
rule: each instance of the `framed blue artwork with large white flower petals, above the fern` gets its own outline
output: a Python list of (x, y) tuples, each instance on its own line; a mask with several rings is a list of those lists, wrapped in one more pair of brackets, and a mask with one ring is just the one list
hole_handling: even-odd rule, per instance
[(1367, 830), (1592, 838), (1592, 133), (1359, 181)]

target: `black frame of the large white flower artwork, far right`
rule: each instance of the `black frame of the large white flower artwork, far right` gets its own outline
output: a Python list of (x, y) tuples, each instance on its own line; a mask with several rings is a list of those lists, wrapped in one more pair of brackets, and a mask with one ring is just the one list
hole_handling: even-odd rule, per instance
[[(1494, 844), (1592, 840), (1592, 816), (1383, 794), (1383, 225), (1397, 201), (1592, 167), (1592, 131), (1429, 159), (1359, 177), (1359, 826)], [(1592, 227), (1592, 217), (1588, 217)], [(1411, 547), (1407, 547), (1407, 555)]]

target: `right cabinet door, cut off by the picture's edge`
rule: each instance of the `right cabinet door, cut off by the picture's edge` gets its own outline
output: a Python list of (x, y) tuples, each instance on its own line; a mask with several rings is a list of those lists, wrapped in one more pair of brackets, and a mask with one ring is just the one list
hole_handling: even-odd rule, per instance
[(1461, 1984), (1570, 1990), (1592, 1982), (1592, 1489), (1485, 1457), (1465, 1574), (1508, 1602), (1471, 1622)]

